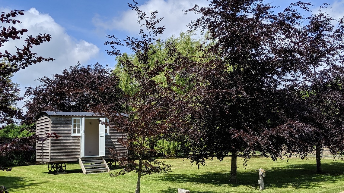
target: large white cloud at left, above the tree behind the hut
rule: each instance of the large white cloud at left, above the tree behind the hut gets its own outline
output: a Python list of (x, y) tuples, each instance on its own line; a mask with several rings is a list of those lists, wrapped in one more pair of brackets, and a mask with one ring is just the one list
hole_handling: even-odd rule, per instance
[[(4, 12), (10, 11), (1, 8), (0, 10)], [(21, 40), (10, 40), (5, 43), (0, 49), (0, 52), (7, 49), (10, 53), (14, 54), (15, 46), (20, 48), (26, 35), (36, 36), (39, 33), (47, 33), (52, 36), (51, 41), (34, 46), (32, 52), (37, 53), (38, 56), (55, 59), (53, 62), (33, 64), (15, 73), (13, 81), (20, 84), (22, 92), (24, 91), (24, 87), (38, 85), (39, 82), (35, 81), (37, 78), (60, 73), (62, 69), (75, 65), (78, 61), (82, 64), (86, 63), (99, 53), (99, 48), (96, 45), (69, 36), (65, 29), (55, 23), (49, 14), (42, 14), (35, 8), (24, 12), (24, 15), (18, 16), (17, 20), (20, 20), (22, 23), (14, 26), (17, 29), (28, 29), (28, 32), (24, 34)]]

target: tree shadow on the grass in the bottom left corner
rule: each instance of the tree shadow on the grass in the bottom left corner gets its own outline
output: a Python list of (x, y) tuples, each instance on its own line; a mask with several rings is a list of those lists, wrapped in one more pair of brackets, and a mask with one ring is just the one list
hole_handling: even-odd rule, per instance
[(9, 192), (30, 189), (31, 186), (38, 186), (42, 183), (48, 183), (48, 181), (36, 183), (35, 180), (26, 177), (0, 176), (0, 185), (5, 186)]

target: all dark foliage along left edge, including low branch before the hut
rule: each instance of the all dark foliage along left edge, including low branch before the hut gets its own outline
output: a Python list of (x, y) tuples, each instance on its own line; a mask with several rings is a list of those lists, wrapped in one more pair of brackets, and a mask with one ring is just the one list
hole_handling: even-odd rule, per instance
[[(16, 16), (23, 15), (23, 10), (12, 10), (10, 13), (4, 13), (0, 15), (1, 23), (8, 23), (8, 27), (0, 25), (0, 47), (3, 47), (5, 42), (14, 41), (15, 39), (21, 39), (24, 33), (28, 32), (26, 29), (17, 30), (13, 25), (21, 23), (19, 20), (15, 20)], [(13, 25), (11, 26), (12, 23)], [(6, 25), (6, 24), (5, 24)], [(29, 65), (40, 63), (42, 61), (54, 60), (53, 58), (44, 58), (42, 56), (36, 56), (36, 53), (31, 52), (34, 46), (40, 45), (43, 42), (49, 42), (51, 36), (49, 34), (40, 34), (36, 37), (32, 35), (28, 36), (24, 40), (22, 48), (17, 47), (15, 54), (11, 54), (8, 50), (4, 50), (4, 53), (0, 53), (0, 123), (12, 123), (13, 118), (21, 118), (22, 113), (18, 108), (13, 107), (16, 101), (22, 100), (23, 98), (18, 96), (19, 89), (18, 85), (12, 83), (10, 78), (13, 73), (20, 69), (25, 69)], [(5, 60), (3, 60), (5, 59)], [(15, 138), (12, 141), (4, 142), (0, 144), (0, 156), (4, 156), (8, 152), (18, 150), (33, 150), (31, 144), (35, 140), (45, 140), (47, 137), (57, 137), (56, 134), (44, 137), (31, 136), (23, 138)], [(0, 166), (2, 171), (10, 171), (11, 169)], [(1, 187), (0, 192), (7, 192), (5, 187)]]

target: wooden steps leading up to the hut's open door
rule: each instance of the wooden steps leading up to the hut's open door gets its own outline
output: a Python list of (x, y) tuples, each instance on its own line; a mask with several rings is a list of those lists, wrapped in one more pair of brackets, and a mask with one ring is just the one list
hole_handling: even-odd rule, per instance
[(110, 172), (103, 157), (79, 158), (79, 164), (84, 174)]

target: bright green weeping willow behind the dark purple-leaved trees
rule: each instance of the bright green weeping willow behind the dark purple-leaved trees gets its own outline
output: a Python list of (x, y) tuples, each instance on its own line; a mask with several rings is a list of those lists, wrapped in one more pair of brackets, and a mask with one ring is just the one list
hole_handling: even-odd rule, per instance
[[(164, 63), (170, 63), (174, 66), (180, 66), (180, 68), (172, 69), (166, 68), (164, 72), (153, 79), (160, 83), (163, 88), (169, 87), (165, 73), (173, 74), (174, 84), (170, 87), (178, 95), (175, 96), (175, 100), (186, 102), (189, 99), (189, 91), (193, 88), (193, 75), (183, 75), (185, 60), (197, 62), (203, 60), (204, 50), (201, 49), (202, 40), (192, 38), (191, 33), (180, 33), (179, 36), (171, 36), (166, 38), (165, 41), (156, 41), (152, 44), (151, 49), (154, 50), (151, 55), (150, 66), (155, 66), (155, 61), (161, 61)], [(139, 85), (135, 81), (135, 77), (131, 77), (125, 66), (122, 66), (120, 60), (129, 59), (135, 64), (139, 64), (138, 58), (134, 54), (124, 54), (117, 57), (119, 63), (114, 70), (114, 74), (119, 77), (119, 87), (127, 95), (134, 95), (139, 91)], [(169, 75), (170, 75), (169, 74)], [(169, 76), (167, 75), (167, 76)], [(171, 104), (172, 106), (173, 104)], [(152, 140), (150, 148), (155, 149), (158, 155), (161, 153), (165, 156), (184, 156), (189, 152), (187, 148), (187, 136), (186, 132), (181, 130), (175, 130), (174, 134), (166, 137), (165, 139)], [(173, 149), (172, 151), (170, 151)]]

